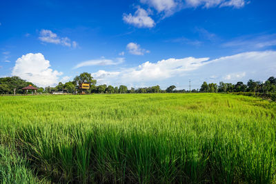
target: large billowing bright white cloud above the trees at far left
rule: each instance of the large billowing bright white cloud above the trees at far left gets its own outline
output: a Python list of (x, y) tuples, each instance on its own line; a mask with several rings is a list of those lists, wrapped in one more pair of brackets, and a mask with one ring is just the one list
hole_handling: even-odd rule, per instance
[(50, 61), (46, 60), (41, 53), (26, 54), (15, 61), (12, 75), (20, 76), (21, 79), (30, 81), (41, 87), (56, 85), (59, 76), (63, 73), (50, 68)]

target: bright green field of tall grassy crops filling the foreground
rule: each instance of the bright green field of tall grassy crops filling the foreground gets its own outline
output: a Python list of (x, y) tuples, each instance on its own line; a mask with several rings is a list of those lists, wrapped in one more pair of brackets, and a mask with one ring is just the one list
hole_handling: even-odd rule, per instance
[(275, 116), (234, 94), (0, 96), (0, 183), (275, 183)]

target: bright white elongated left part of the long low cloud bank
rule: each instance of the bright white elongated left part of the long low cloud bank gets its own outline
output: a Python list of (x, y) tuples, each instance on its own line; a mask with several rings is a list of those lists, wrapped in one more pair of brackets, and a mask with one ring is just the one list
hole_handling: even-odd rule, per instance
[[(99, 70), (92, 73), (92, 76), (99, 81), (108, 81), (115, 79), (121, 83), (132, 83), (141, 81), (155, 81), (168, 79), (172, 76), (183, 75), (184, 72), (196, 70), (197, 68), (206, 65), (208, 58), (195, 59), (188, 57), (184, 59), (164, 59), (157, 63), (149, 61), (139, 65), (137, 68), (127, 68), (120, 72), (107, 72)], [(112, 76), (112, 77), (110, 77)]]

